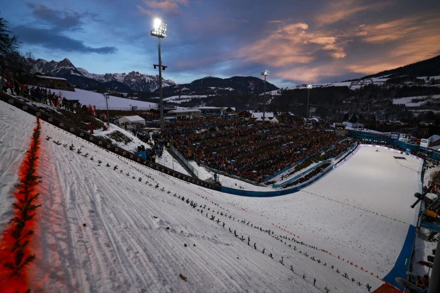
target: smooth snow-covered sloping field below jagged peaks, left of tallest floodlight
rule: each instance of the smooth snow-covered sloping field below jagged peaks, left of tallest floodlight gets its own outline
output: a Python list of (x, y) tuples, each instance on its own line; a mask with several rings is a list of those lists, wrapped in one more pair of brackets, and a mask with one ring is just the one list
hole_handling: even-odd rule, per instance
[[(101, 93), (92, 92), (84, 89), (75, 88), (75, 91), (68, 90), (58, 90), (58, 89), (50, 89), (52, 92), (55, 91), (56, 94), (61, 91), (63, 97), (67, 100), (79, 100), (82, 105), (95, 105), (96, 108), (105, 109), (106, 108), (106, 99)], [(136, 101), (132, 99), (125, 99), (120, 97), (110, 96), (109, 98), (109, 109), (118, 109), (118, 108), (130, 108), (132, 106), (138, 106), (142, 108), (152, 108), (157, 109), (157, 104)]]

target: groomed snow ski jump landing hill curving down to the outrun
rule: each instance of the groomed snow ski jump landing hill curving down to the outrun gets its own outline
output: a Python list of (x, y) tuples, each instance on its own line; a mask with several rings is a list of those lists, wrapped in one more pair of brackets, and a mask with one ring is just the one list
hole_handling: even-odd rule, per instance
[[(35, 117), (0, 104), (5, 227)], [(43, 122), (42, 207), (31, 244), (37, 258), (27, 282), (48, 292), (373, 291), (409, 264), (399, 260), (416, 218), (410, 205), (421, 165), (376, 149), (360, 147), (299, 192), (243, 197), (171, 177)]]

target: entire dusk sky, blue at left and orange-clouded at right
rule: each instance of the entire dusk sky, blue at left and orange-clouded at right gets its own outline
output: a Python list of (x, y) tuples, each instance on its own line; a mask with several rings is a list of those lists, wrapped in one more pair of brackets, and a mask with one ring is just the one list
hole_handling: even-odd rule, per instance
[(68, 58), (92, 73), (157, 74), (153, 19), (165, 79), (260, 76), (277, 86), (342, 81), (440, 54), (438, 0), (3, 1), (0, 17), (22, 52)]

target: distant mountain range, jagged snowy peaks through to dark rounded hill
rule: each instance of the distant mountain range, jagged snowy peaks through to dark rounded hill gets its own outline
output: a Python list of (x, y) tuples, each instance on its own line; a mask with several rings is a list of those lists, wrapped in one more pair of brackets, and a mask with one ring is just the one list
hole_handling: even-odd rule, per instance
[[(62, 77), (69, 84), (77, 85), (87, 90), (111, 90), (138, 97), (158, 96), (159, 76), (142, 74), (137, 71), (130, 73), (90, 73), (84, 68), (75, 67), (67, 58), (60, 62), (37, 59), (35, 71), (49, 74), (54, 77)], [(186, 95), (227, 95), (244, 92), (261, 93), (264, 91), (264, 81), (260, 78), (247, 76), (234, 76), (221, 79), (208, 76), (198, 79), (189, 84), (176, 84), (172, 80), (162, 78), (163, 95), (165, 97), (186, 94)], [(266, 82), (266, 90), (276, 90), (273, 84)]]

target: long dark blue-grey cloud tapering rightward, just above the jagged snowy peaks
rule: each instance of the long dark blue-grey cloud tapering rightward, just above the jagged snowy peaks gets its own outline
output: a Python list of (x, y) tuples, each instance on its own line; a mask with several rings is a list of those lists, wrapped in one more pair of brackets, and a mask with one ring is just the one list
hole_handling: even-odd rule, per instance
[(89, 47), (84, 42), (74, 40), (59, 34), (51, 29), (31, 28), (19, 25), (14, 28), (20, 40), (24, 43), (41, 45), (48, 49), (59, 49), (66, 52), (113, 54), (117, 52), (116, 47)]

